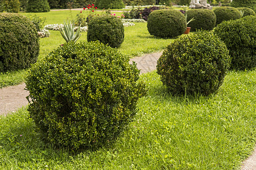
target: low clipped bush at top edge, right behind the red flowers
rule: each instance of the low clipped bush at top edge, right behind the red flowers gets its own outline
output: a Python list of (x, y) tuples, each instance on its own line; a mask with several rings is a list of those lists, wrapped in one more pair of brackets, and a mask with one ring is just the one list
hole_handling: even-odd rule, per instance
[(121, 9), (125, 7), (122, 0), (96, 0), (95, 6), (100, 9)]

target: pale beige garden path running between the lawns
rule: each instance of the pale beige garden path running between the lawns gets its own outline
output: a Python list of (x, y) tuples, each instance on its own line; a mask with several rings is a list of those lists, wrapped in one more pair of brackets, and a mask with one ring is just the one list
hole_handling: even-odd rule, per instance
[[(141, 74), (156, 69), (156, 62), (161, 56), (162, 52), (146, 54), (142, 57), (135, 57), (130, 59), (130, 63), (135, 61), (138, 69), (141, 70)], [(25, 83), (19, 84), (18, 86), (11, 86), (0, 88), (0, 114), (8, 114), (15, 112), (17, 108), (26, 106), (28, 101), (28, 91), (24, 90), (26, 87)], [(241, 170), (255, 170), (256, 169), (256, 148), (253, 154), (243, 162)]]

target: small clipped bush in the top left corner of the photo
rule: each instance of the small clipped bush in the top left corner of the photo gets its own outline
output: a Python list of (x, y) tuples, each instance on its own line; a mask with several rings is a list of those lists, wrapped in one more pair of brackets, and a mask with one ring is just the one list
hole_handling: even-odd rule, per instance
[(19, 0), (1, 0), (0, 1), (0, 12), (19, 12)]

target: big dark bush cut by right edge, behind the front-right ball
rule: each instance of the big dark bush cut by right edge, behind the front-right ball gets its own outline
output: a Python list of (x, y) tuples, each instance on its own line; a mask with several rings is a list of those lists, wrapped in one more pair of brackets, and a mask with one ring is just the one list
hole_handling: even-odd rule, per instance
[(232, 57), (231, 69), (256, 66), (256, 16), (246, 16), (219, 24), (214, 33), (225, 42)]

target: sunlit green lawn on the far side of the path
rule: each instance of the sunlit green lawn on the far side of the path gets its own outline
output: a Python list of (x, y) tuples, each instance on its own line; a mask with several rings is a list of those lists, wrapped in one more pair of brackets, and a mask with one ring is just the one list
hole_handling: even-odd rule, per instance
[[(39, 13), (25, 13), (21, 12), (22, 15), (36, 15), (46, 18), (46, 24), (61, 24), (64, 20), (75, 19), (76, 15), (80, 11), (50, 11), (50, 12), (39, 12)], [(84, 14), (87, 14), (85, 11)], [(120, 16), (122, 12), (113, 12)], [(96, 14), (102, 14), (102, 11), (96, 11)], [(61, 36), (59, 31), (49, 30), (50, 36), (40, 39), (40, 54), (38, 59), (44, 58), (53, 49), (58, 48), (61, 44), (65, 43), (65, 40)], [(86, 32), (81, 33), (82, 36), (77, 42), (87, 41)], [(125, 27), (125, 40), (118, 50), (129, 57), (142, 56), (147, 53), (159, 52), (166, 48), (174, 39), (159, 39), (151, 36), (147, 31), (147, 23), (135, 23), (134, 26)], [(10, 76), (11, 75), (11, 76)], [(10, 71), (7, 74), (0, 74), (0, 88), (6, 86), (13, 86), (24, 81), (25, 70), (21, 71)]]

